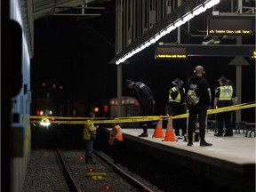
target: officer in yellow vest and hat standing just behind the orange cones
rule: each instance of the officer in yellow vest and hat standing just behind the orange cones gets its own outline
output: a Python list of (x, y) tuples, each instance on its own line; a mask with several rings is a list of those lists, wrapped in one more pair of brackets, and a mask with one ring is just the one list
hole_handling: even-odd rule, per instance
[[(185, 114), (185, 89), (181, 87), (183, 81), (181, 81), (179, 78), (176, 78), (174, 81), (172, 81), (172, 84), (174, 86), (169, 90), (169, 105), (171, 105), (172, 108), (172, 116)], [(176, 136), (180, 136), (180, 129), (182, 130), (182, 136), (187, 133), (185, 118), (173, 119), (172, 123)]]

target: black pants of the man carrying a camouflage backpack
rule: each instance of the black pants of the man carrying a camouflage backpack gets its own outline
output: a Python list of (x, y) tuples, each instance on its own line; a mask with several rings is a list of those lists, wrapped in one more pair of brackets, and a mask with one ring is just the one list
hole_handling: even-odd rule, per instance
[(188, 115), (188, 141), (192, 142), (193, 132), (195, 131), (196, 118), (198, 116), (199, 136), (201, 140), (205, 138), (205, 121), (207, 115), (207, 106), (200, 106), (197, 108), (189, 108)]

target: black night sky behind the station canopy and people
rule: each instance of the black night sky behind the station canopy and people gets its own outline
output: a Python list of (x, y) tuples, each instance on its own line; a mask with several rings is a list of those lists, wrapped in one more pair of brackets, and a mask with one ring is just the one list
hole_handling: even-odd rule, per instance
[[(110, 4), (110, 5), (113, 5)], [(31, 85), (35, 108), (36, 99), (44, 99), (47, 92), (55, 100), (76, 105), (100, 105), (101, 100), (116, 97), (116, 65), (109, 64), (115, 57), (116, 19), (115, 9), (107, 7), (99, 18), (77, 19), (76, 17), (48, 17), (35, 21), (35, 55), (31, 60)], [(198, 20), (200, 22), (198, 22)], [(198, 25), (198, 23), (200, 23)], [(191, 28), (204, 29), (204, 15), (191, 20)], [(191, 29), (191, 30), (192, 30)], [(195, 29), (195, 31), (196, 31)], [(186, 26), (181, 28), (181, 44), (201, 44), (203, 36), (189, 35)], [(191, 31), (191, 33), (195, 32)], [(195, 32), (196, 33), (196, 32)], [(175, 43), (176, 32), (159, 41)], [(254, 41), (255, 38), (246, 38)], [(222, 41), (221, 44), (236, 44), (236, 40)], [(142, 81), (151, 87), (156, 97), (156, 114), (165, 114), (168, 91), (172, 81), (179, 77), (186, 81), (196, 65), (205, 68), (205, 77), (211, 84), (212, 93), (218, 86), (220, 76), (227, 76), (236, 83), (236, 67), (228, 63), (230, 57), (189, 57), (188, 60), (155, 60), (155, 46), (137, 53), (130, 64), (123, 66), (123, 81), (130, 78)], [(243, 67), (242, 102), (255, 100), (255, 62)], [(43, 83), (63, 86), (63, 90), (52, 90)], [(123, 95), (130, 95), (123, 87)], [(238, 96), (239, 97), (239, 96)], [(254, 120), (255, 108), (242, 111), (244, 120)], [(255, 120), (254, 120), (255, 121)]]

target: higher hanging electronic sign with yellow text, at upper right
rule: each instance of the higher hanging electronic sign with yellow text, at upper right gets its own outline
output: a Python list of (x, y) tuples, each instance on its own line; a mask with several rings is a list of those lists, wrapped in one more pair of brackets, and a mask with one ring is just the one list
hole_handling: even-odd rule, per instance
[(252, 36), (252, 16), (208, 16), (208, 36)]

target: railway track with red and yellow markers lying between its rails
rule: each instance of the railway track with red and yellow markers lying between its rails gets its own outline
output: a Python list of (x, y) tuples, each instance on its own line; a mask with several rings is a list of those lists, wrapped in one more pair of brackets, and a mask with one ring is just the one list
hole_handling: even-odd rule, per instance
[(61, 152), (63, 174), (70, 191), (153, 191), (140, 180), (124, 172), (102, 152), (93, 151), (97, 164), (84, 164), (84, 151)]

